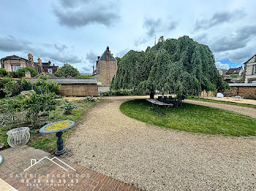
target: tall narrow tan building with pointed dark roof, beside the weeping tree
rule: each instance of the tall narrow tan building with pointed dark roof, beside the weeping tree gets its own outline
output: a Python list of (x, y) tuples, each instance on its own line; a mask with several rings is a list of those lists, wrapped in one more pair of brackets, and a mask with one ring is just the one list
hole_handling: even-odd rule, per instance
[(111, 54), (109, 47), (105, 50), (102, 56), (98, 56), (96, 69), (93, 66), (93, 77), (97, 79), (99, 84), (99, 93), (109, 90), (110, 82), (112, 81), (117, 70), (116, 58)]

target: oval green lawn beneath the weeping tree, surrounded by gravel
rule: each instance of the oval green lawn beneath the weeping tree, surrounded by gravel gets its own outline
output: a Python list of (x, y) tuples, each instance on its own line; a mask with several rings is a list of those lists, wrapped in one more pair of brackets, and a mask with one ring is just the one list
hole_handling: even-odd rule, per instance
[(134, 100), (121, 104), (120, 110), (136, 120), (165, 128), (221, 136), (256, 135), (256, 119), (207, 106), (183, 104), (157, 110), (146, 100)]

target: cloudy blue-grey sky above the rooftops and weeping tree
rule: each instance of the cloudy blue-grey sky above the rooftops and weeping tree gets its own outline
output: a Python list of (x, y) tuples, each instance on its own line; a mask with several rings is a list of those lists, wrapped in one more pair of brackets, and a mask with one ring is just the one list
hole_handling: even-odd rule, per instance
[(223, 69), (256, 54), (255, 0), (8, 0), (0, 7), (0, 58), (31, 52), (34, 61), (91, 73), (107, 46), (121, 57), (153, 46), (155, 35), (207, 44)]

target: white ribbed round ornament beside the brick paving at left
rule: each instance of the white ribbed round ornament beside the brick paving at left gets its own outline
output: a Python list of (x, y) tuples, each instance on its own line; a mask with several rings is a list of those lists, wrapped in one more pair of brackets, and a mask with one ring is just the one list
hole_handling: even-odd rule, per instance
[(27, 144), (30, 138), (29, 128), (14, 128), (7, 132), (7, 143), (10, 147), (18, 147), (22, 144)]

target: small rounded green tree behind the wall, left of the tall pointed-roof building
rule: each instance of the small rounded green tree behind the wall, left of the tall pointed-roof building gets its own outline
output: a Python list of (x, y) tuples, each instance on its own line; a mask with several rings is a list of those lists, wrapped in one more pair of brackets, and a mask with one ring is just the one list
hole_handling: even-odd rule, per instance
[(64, 66), (61, 66), (61, 68), (54, 73), (54, 75), (56, 75), (56, 77), (79, 77), (80, 72), (69, 63), (65, 63)]

